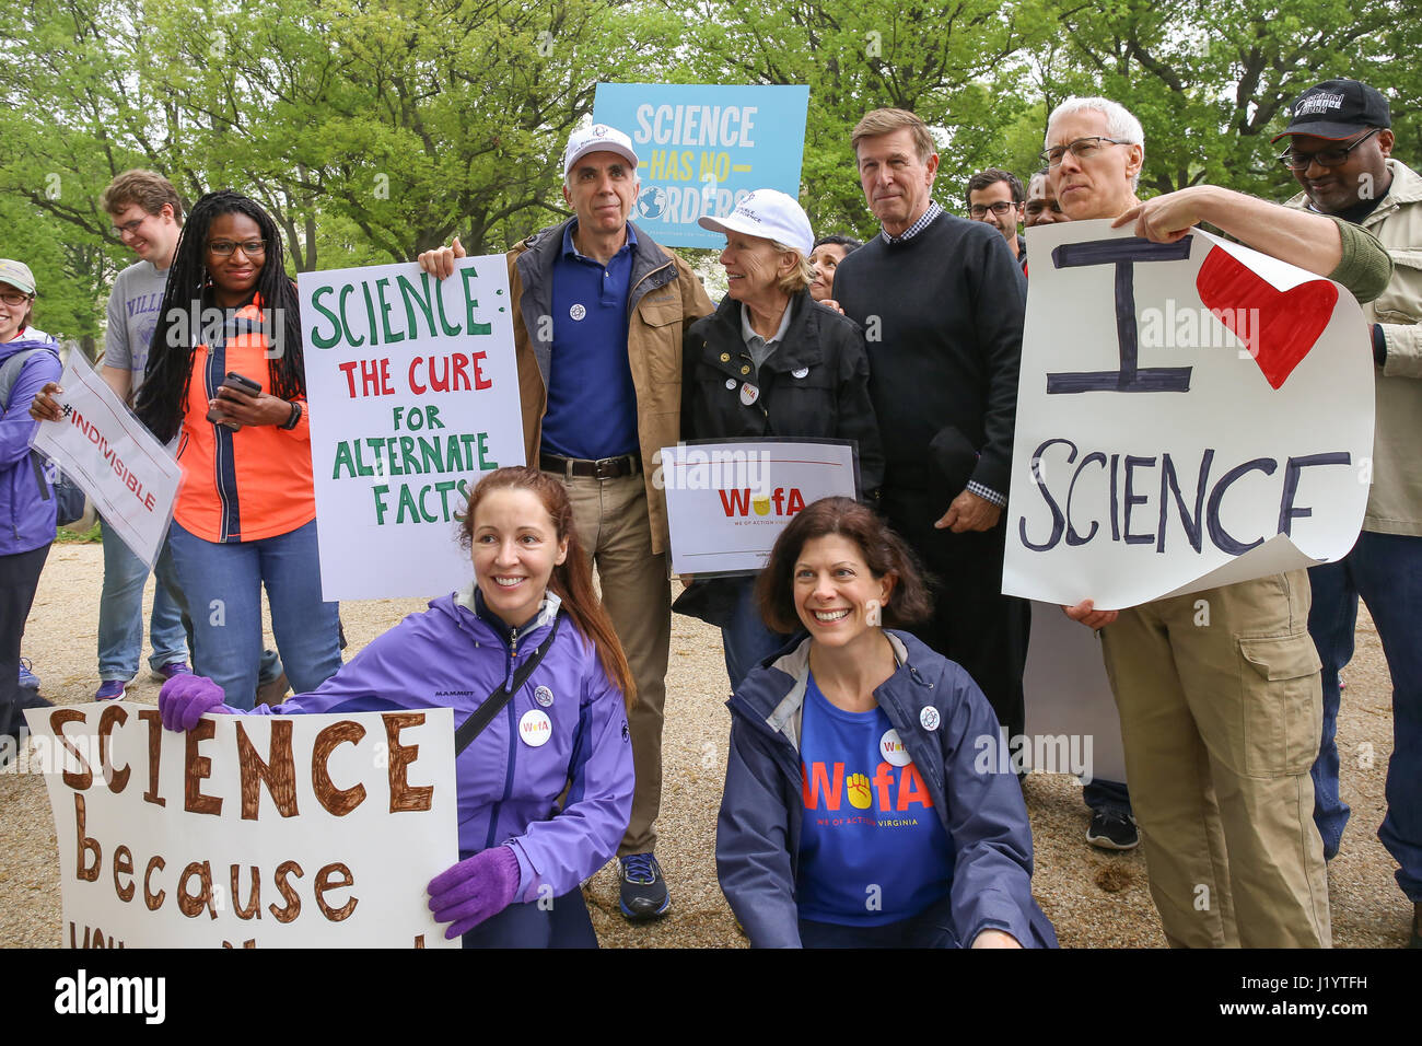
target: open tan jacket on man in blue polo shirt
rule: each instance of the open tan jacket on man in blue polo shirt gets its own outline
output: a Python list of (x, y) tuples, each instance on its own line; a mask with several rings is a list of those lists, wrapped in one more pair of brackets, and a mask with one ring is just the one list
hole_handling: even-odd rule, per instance
[[(513, 347), (523, 406), (523, 453), (533, 467), (539, 460), (553, 354), (553, 262), (569, 222), (533, 233), (508, 253), (509, 295), (519, 306), (513, 310)], [(647, 484), (651, 551), (657, 554), (671, 544), (656, 463), (663, 447), (681, 438), (681, 340), (687, 327), (715, 306), (685, 262), (637, 229), (627, 307), (627, 361), (637, 390), (637, 441)]]

